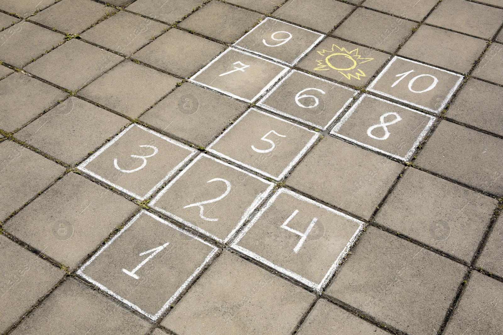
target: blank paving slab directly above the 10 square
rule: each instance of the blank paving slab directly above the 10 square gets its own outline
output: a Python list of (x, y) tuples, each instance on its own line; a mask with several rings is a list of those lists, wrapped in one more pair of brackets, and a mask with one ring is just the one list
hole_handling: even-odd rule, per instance
[(467, 73), (485, 47), (484, 40), (422, 25), (398, 54), (452, 71)]

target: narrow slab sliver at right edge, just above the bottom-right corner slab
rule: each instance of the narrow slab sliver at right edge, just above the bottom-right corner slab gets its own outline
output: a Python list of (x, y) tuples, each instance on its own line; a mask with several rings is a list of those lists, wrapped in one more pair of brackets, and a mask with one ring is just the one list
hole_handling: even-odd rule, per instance
[(503, 266), (499, 261), (503, 257), (503, 248), (501, 246), (501, 239), (503, 239), (502, 222), (503, 220), (499, 218), (494, 224), (485, 247), (477, 260), (477, 267), (500, 277), (503, 277)]

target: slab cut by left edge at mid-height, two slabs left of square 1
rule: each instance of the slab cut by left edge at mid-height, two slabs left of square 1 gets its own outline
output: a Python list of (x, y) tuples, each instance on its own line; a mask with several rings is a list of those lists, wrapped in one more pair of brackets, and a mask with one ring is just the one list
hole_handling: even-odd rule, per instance
[(0, 143), (0, 217), (6, 219), (44, 190), (64, 172), (64, 167), (14, 142)]

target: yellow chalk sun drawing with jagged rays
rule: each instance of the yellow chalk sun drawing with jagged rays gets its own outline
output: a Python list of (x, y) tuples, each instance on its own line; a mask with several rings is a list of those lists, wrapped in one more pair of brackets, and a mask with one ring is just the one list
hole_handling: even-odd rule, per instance
[(341, 73), (346, 78), (355, 78), (360, 80), (360, 77), (366, 77), (365, 73), (358, 68), (358, 65), (365, 62), (370, 62), (374, 58), (362, 58), (358, 54), (358, 48), (352, 51), (348, 51), (346, 48), (340, 48), (335, 44), (332, 44), (332, 50), (317, 51), (321, 56), (324, 56), (324, 60), (317, 60), (318, 67), (315, 71), (324, 70), (336, 70)]

